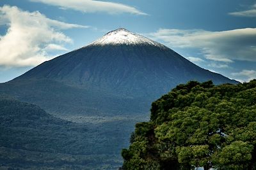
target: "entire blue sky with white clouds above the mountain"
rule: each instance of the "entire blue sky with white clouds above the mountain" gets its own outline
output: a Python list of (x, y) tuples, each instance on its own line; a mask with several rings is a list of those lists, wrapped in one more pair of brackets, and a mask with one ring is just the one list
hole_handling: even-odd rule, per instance
[(0, 0), (0, 83), (119, 27), (228, 78), (256, 78), (255, 0)]

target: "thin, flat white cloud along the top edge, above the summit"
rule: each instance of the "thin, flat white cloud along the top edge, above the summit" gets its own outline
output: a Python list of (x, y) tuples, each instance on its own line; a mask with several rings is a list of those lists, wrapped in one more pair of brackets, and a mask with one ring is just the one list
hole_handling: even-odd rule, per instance
[(120, 3), (111, 3), (106, 1), (93, 0), (30, 0), (32, 2), (45, 3), (52, 6), (58, 6), (61, 9), (72, 9), (84, 13), (106, 12), (110, 14), (131, 13), (135, 15), (147, 15), (132, 6)]

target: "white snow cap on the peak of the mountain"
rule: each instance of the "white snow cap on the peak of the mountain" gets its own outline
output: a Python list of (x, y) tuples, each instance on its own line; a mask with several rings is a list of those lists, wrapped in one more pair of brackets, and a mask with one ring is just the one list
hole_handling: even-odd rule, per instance
[(154, 45), (166, 48), (164, 45), (161, 45), (152, 39), (145, 38), (144, 36), (135, 34), (134, 32), (128, 31), (124, 28), (110, 31), (102, 36), (102, 38), (90, 43), (90, 45)]

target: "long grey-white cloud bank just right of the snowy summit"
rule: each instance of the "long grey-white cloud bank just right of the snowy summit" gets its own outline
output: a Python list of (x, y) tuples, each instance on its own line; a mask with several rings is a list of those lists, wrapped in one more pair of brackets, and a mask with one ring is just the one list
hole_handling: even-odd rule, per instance
[(256, 61), (256, 29), (204, 31), (200, 29), (159, 29), (147, 34), (177, 48), (196, 48), (204, 57), (218, 62)]

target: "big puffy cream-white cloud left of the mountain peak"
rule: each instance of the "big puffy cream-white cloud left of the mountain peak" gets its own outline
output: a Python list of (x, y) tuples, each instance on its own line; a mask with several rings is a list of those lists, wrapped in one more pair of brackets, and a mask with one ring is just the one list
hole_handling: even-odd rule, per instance
[(63, 43), (72, 43), (61, 29), (88, 27), (7, 5), (0, 7), (0, 24), (8, 27), (6, 34), (0, 36), (0, 66), (36, 66), (51, 59), (47, 52), (67, 50)]

